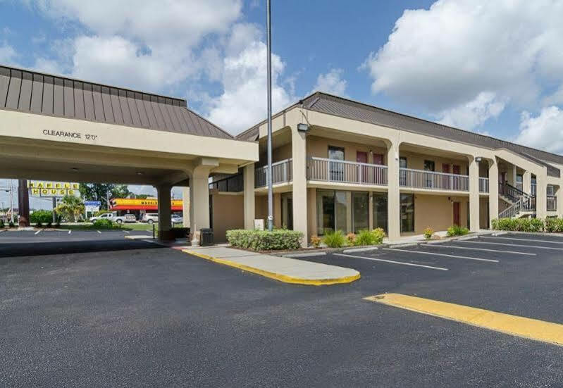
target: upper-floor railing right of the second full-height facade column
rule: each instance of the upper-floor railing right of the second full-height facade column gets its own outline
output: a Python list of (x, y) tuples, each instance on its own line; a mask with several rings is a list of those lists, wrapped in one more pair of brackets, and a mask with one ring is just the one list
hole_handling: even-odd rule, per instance
[(400, 168), (399, 184), (402, 187), (414, 189), (452, 190), (455, 192), (469, 192), (469, 176), (435, 171), (412, 170)]

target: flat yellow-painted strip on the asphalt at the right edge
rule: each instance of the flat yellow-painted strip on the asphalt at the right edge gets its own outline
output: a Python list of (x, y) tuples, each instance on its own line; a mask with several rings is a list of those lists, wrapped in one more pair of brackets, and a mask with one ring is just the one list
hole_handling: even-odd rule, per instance
[(381, 294), (364, 299), (518, 337), (563, 345), (563, 325), (559, 323), (402, 294)]

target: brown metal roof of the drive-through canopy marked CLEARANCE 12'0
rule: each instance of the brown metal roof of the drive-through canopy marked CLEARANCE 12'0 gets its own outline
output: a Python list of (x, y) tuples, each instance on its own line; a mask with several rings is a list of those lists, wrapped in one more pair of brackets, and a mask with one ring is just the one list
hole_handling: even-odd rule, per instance
[(233, 139), (185, 99), (0, 66), (0, 109)]

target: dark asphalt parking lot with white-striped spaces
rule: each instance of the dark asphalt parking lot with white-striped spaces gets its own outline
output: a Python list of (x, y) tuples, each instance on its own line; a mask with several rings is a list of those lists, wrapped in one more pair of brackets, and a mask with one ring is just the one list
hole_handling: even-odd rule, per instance
[(2, 386), (557, 387), (563, 380), (561, 346), (364, 300), (395, 292), (563, 323), (561, 237), (505, 234), (316, 256), (307, 260), (362, 277), (310, 287), (123, 234), (86, 232), (75, 242), (82, 250), (23, 256), (11, 239), (70, 241), (7, 233), (0, 233)]

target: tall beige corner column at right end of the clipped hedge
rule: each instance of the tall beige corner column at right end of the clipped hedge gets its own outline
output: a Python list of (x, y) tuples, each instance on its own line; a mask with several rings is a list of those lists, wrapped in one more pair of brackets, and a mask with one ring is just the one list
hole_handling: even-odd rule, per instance
[[(307, 246), (307, 132), (291, 129), (293, 173), (293, 230), (303, 233), (302, 246)], [(314, 204), (312, 204), (314, 206)]]

